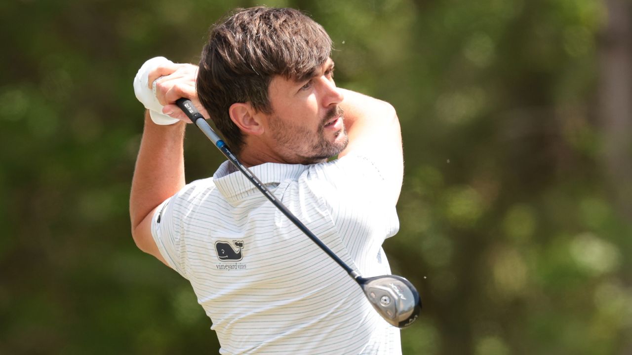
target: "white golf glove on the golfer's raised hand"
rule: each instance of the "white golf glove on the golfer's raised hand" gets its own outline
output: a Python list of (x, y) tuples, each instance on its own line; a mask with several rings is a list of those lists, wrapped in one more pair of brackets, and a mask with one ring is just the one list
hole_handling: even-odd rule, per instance
[(177, 118), (169, 117), (162, 113), (162, 105), (156, 99), (154, 90), (149, 86), (149, 72), (157, 68), (163, 63), (173, 63), (166, 57), (154, 57), (146, 61), (143, 66), (138, 69), (138, 73), (134, 78), (134, 93), (136, 98), (145, 109), (149, 110), (149, 116), (155, 124), (167, 125), (174, 124), (179, 121)]

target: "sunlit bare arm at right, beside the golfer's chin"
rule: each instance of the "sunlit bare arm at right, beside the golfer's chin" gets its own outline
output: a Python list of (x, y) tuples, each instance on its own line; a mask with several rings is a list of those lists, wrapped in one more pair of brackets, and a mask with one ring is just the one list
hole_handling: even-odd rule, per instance
[(395, 109), (387, 102), (361, 93), (340, 89), (344, 93), (341, 106), (349, 144), (338, 157), (360, 153), (370, 157), (387, 179), (389, 195), (394, 203), (399, 198), (404, 174), (401, 129)]

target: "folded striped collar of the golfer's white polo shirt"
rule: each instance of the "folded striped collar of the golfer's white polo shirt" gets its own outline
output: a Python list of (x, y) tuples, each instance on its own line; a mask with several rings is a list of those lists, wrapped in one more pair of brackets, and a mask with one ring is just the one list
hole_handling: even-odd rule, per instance
[[(236, 203), (253, 193), (260, 193), (241, 171), (233, 172), (234, 167), (232, 167), (233, 169), (231, 167), (231, 162), (226, 160), (219, 165), (219, 169), (213, 175), (213, 182), (217, 186), (217, 190), (228, 202)], [(296, 180), (308, 167), (309, 165), (301, 164), (264, 163), (248, 169), (264, 185), (269, 185), (279, 184), (288, 179)]]

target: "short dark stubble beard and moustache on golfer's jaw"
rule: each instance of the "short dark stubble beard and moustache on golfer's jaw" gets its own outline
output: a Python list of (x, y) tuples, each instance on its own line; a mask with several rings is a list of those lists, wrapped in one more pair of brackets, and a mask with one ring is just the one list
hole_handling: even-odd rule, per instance
[(325, 114), (325, 117), (319, 124), (315, 140), (310, 139), (313, 138), (314, 134), (307, 128), (288, 126), (281, 123), (278, 117), (273, 117), (270, 120), (272, 138), (277, 141), (279, 147), (284, 147), (288, 153), (295, 155), (296, 159), (292, 160), (296, 160), (299, 164), (324, 162), (342, 152), (349, 143), (344, 123), (343, 128), (334, 133), (336, 138), (339, 138), (340, 135), (343, 135), (343, 138), (334, 141), (329, 141), (325, 138), (325, 124), (337, 116), (343, 119), (343, 114), (344, 111), (339, 106), (332, 107), (327, 111), (327, 114)]

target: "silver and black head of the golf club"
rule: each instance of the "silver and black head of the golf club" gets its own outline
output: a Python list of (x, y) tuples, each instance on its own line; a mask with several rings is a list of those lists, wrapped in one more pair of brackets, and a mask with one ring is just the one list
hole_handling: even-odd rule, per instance
[(411, 325), (422, 309), (422, 302), (415, 286), (397, 275), (361, 278), (360, 285), (368, 301), (386, 322), (395, 327)]

